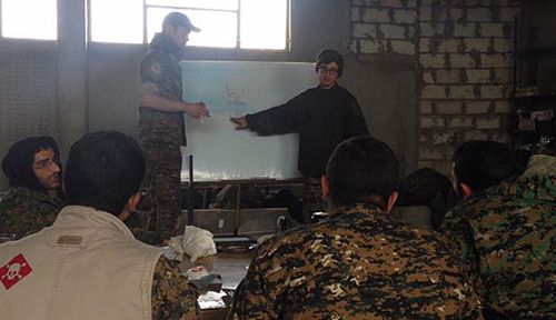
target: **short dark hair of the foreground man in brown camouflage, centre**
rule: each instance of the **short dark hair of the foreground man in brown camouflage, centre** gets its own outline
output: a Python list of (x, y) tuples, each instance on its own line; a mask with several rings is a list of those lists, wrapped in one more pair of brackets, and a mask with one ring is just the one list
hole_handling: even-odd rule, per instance
[(369, 136), (345, 140), (326, 168), (329, 200), (334, 207), (341, 207), (374, 202), (379, 197), (380, 203), (375, 204), (384, 207), (396, 190), (398, 171), (398, 160), (385, 142)]

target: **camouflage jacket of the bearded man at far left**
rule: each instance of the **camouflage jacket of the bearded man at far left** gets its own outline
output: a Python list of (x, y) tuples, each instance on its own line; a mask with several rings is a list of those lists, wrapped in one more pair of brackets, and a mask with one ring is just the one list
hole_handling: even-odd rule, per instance
[(23, 238), (51, 226), (64, 206), (59, 198), (22, 187), (11, 187), (0, 201), (0, 233)]

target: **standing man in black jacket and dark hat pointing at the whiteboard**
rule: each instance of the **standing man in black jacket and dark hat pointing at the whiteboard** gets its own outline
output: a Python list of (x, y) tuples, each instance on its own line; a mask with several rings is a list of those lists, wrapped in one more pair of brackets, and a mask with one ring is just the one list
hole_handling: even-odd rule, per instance
[(306, 220), (310, 212), (326, 208), (320, 199), (320, 177), (334, 148), (347, 138), (369, 134), (357, 99), (337, 83), (344, 71), (341, 54), (334, 49), (320, 51), (316, 71), (316, 88), (281, 106), (230, 119), (236, 129), (249, 129), (260, 136), (299, 133), (298, 169), (306, 178)]

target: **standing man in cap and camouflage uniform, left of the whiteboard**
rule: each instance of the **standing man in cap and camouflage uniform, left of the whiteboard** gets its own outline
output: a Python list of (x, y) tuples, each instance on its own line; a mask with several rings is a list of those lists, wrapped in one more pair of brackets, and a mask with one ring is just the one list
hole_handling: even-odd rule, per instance
[(189, 32), (200, 31), (180, 12), (169, 13), (141, 62), (138, 136), (148, 163), (155, 213), (148, 228), (165, 237), (176, 230), (181, 212), (180, 146), (186, 144), (183, 113), (208, 117), (202, 102), (182, 101), (181, 69)]

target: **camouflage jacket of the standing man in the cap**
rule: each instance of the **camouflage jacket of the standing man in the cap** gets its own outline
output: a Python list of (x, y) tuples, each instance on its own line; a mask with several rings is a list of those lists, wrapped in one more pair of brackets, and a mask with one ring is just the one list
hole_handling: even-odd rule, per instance
[[(143, 57), (140, 71), (140, 93), (159, 94), (173, 101), (182, 101), (181, 68), (183, 49), (173, 44), (163, 33), (157, 33)], [(139, 138), (143, 142), (179, 142), (186, 144), (183, 114), (151, 108), (139, 108)], [(176, 141), (177, 140), (177, 141)]]

